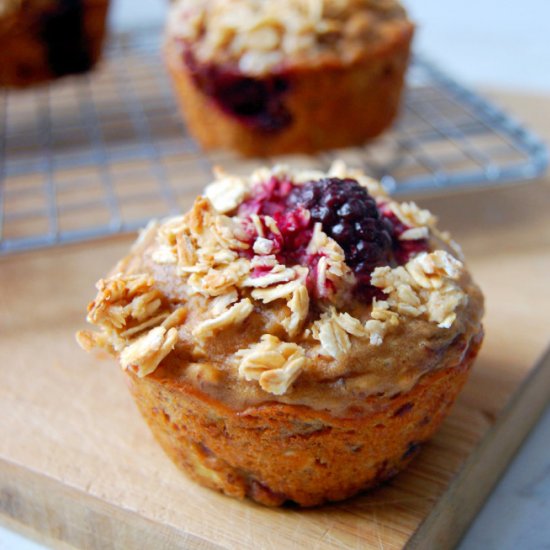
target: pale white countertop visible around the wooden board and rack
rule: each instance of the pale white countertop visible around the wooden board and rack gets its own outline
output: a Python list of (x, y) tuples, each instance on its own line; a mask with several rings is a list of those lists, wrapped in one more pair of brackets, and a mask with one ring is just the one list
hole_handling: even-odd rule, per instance
[[(118, 0), (112, 23), (128, 28), (160, 21), (166, 4), (166, 0)], [(405, 0), (405, 4), (418, 22), (417, 49), (458, 79), (474, 87), (550, 95), (550, 0)], [(550, 549), (549, 441), (550, 408), (459, 550)], [(0, 550), (42, 548), (0, 527)]]

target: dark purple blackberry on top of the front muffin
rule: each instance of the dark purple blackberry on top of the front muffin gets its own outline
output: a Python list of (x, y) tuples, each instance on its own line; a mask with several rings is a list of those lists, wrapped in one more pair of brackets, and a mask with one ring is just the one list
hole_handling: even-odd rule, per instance
[(346, 263), (368, 277), (392, 255), (391, 222), (380, 215), (374, 198), (353, 179), (323, 178), (294, 188), (289, 206), (302, 206), (344, 250)]

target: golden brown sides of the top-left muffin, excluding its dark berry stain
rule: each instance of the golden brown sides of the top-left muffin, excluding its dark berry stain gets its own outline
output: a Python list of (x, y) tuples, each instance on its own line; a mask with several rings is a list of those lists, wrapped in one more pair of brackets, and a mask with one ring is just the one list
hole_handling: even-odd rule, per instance
[[(24, 88), (57, 78), (48, 61), (40, 18), (51, 9), (17, 11), (0, 20), (0, 86)], [(101, 55), (109, 0), (83, 1), (83, 33), (90, 66)]]

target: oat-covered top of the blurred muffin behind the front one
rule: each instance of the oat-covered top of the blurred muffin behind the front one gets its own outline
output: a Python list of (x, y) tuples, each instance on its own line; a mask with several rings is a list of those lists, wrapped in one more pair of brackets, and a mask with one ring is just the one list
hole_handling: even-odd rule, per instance
[(411, 32), (397, 0), (178, 0), (168, 20), (195, 61), (255, 76), (350, 64)]

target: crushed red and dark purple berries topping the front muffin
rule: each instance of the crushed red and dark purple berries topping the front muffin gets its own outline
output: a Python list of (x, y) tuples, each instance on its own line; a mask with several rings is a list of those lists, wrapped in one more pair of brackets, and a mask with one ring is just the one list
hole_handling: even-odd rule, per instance
[[(410, 229), (387, 204), (375, 199), (356, 180), (323, 178), (303, 185), (288, 179), (271, 177), (256, 185), (251, 196), (239, 208), (239, 215), (257, 214), (263, 220), (271, 216), (279, 233), (274, 234), (264, 222), (264, 234), (274, 243), (273, 254), (281, 263), (301, 264), (309, 268), (308, 278), (315, 288), (319, 255), (306, 252), (315, 222), (344, 250), (346, 263), (356, 275), (356, 295), (365, 301), (382, 298), (370, 285), (370, 275), (377, 266), (400, 265), (414, 254), (428, 249), (426, 239), (400, 240)], [(331, 283), (332, 284), (332, 283)]]

